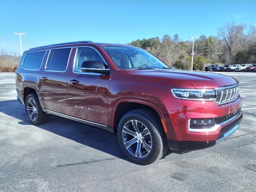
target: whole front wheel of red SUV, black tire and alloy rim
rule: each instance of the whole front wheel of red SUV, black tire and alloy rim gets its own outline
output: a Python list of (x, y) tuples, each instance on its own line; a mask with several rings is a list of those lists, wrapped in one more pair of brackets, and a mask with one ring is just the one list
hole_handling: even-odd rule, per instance
[(147, 109), (132, 110), (122, 116), (118, 124), (118, 141), (126, 156), (142, 165), (152, 164), (168, 150), (160, 120)]

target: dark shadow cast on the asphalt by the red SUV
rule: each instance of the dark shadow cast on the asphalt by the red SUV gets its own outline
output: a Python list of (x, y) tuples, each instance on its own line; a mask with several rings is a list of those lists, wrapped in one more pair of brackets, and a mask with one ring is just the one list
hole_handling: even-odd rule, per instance
[[(18, 100), (0, 101), (0, 112), (19, 119), (20, 125), (32, 125), (26, 117), (24, 106)], [(45, 124), (34, 126), (136, 164), (122, 152), (117, 136), (106, 130), (55, 115), (50, 115)], [(168, 150), (167, 154), (170, 153), (171, 150)]]

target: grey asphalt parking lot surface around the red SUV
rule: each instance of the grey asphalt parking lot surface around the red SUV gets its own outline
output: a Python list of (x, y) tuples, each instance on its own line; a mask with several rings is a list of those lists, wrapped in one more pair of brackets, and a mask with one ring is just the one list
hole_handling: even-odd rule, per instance
[(34, 126), (16, 99), (15, 74), (0, 73), (0, 191), (256, 191), (256, 73), (240, 81), (241, 126), (205, 150), (140, 166), (104, 130), (50, 116)]

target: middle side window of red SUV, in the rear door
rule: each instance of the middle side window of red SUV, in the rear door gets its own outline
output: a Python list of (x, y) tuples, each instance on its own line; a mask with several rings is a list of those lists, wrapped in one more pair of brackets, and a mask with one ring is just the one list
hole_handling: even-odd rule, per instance
[(66, 71), (70, 51), (71, 48), (51, 50), (46, 64), (46, 70)]

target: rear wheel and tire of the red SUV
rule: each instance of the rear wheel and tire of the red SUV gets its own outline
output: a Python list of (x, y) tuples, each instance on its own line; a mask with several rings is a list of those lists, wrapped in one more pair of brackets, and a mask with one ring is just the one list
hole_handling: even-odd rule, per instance
[[(25, 108), (27, 118), (32, 124), (39, 125), (47, 121), (48, 115), (42, 110), (38, 96), (35, 93), (27, 96)], [(33, 112), (34, 114), (32, 114)]]

